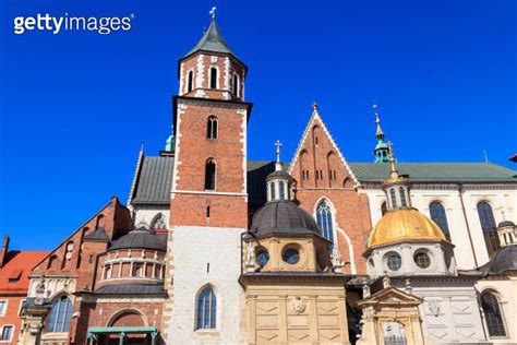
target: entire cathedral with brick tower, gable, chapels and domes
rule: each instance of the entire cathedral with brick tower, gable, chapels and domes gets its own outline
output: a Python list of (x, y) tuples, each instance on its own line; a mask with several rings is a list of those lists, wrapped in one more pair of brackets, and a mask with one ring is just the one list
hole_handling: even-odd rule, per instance
[(397, 163), (376, 105), (372, 163), (316, 104), (290, 160), (250, 160), (247, 72), (214, 15), (164, 150), (33, 260), (16, 336), (0, 295), (0, 343), (517, 344), (517, 170)]

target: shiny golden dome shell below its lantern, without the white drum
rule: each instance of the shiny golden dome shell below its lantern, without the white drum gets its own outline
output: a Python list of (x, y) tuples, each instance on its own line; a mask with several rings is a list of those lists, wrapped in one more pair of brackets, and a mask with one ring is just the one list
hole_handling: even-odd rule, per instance
[(387, 212), (377, 222), (370, 234), (368, 248), (414, 240), (447, 241), (436, 223), (417, 209), (400, 209)]

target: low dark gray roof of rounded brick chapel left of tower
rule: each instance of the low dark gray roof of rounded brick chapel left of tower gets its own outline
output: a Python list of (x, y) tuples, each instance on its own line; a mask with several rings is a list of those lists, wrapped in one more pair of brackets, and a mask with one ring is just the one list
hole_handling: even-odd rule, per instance
[(116, 239), (108, 251), (120, 249), (151, 249), (166, 251), (167, 234), (156, 234), (144, 227), (133, 229)]

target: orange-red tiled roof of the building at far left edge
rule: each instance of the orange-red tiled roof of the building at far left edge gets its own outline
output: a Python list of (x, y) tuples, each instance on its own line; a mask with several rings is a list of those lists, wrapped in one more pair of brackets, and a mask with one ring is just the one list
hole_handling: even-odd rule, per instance
[(28, 289), (28, 275), (33, 266), (41, 261), (48, 251), (10, 250), (0, 267), (0, 294), (19, 294)]

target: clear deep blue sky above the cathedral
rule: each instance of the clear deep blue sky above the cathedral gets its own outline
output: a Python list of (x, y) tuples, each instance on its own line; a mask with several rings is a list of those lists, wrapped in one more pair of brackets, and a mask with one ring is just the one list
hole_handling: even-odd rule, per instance
[[(290, 160), (316, 99), (345, 157), (371, 162), (380, 104), (401, 162), (507, 162), (517, 152), (514, 1), (216, 1), (249, 66), (249, 158)], [(52, 249), (111, 195), (141, 140), (170, 132), (177, 60), (213, 1), (2, 1), (0, 235)], [(14, 35), (20, 15), (135, 15), (130, 32)], [(515, 166), (514, 166), (515, 167)]]

